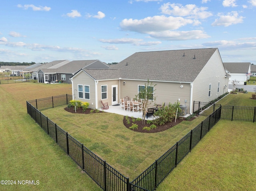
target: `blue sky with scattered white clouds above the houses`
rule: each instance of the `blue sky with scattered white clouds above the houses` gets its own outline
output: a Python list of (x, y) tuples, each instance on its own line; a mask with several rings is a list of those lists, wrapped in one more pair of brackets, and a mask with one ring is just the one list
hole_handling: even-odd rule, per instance
[(0, 61), (99, 59), (218, 48), (256, 64), (256, 0), (10, 0), (0, 7)]

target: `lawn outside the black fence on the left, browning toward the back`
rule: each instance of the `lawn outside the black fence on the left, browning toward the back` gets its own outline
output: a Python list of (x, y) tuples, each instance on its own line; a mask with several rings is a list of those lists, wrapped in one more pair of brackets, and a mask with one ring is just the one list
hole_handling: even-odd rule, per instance
[[(71, 85), (0, 85), (0, 180), (16, 180), (0, 190), (102, 190), (27, 114), (26, 100), (62, 94), (71, 94)], [(18, 180), (39, 185), (18, 185)]]

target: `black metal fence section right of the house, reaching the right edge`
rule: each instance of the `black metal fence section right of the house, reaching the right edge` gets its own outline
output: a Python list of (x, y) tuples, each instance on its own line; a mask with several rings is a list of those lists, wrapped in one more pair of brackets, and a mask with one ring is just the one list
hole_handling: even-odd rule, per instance
[[(220, 104), (194, 101), (193, 113), (208, 116), (214, 112)], [(232, 121), (256, 121), (256, 106), (222, 106), (221, 119)]]

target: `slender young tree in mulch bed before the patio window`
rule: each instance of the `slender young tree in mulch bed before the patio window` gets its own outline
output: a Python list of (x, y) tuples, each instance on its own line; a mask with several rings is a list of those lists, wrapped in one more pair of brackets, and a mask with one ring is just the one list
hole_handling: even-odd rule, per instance
[(140, 89), (138, 95), (135, 95), (136, 98), (142, 99), (142, 124), (145, 124), (145, 117), (148, 104), (156, 100), (156, 96), (154, 96), (155, 86), (156, 84), (153, 85), (153, 83), (149, 83), (148, 80), (148, 83), (145, 83), (144, 87), (139, 87)]

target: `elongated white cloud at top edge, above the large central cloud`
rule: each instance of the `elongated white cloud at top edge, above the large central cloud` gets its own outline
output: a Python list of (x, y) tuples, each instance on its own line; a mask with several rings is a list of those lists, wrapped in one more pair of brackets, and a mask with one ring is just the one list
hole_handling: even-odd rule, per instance
[(198, 8), (195, 4), (182, 6), (182, 4), (165, 3), (161, 6), (160, 10), (163, 14), (196, 19), (205, 19), (212, 16), (211, 12), (206, 11), (208, 7)]

